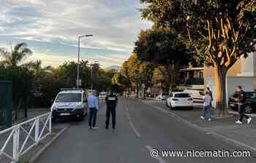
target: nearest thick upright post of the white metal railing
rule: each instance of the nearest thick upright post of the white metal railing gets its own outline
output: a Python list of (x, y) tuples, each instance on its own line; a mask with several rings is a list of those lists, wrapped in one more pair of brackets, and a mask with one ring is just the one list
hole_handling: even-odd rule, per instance
[(15, 132), (13, 133), (13, 145), (12, 145), (12, 156), (15, 162), (18, 162), (19, 159), (19, 143), (20, 143), (20, 127), (15, 128)]

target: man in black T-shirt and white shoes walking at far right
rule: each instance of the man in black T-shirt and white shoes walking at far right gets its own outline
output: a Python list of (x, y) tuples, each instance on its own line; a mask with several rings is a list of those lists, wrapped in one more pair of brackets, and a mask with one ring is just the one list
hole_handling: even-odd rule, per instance
[(247, 119), (247, 124), (249, 124), (252, 121), (252, 118), (245, 114), (246, 95), (240, 85), (236, 87), (236, 91), (237, 98), (235, 98), (235, 100), (238, 102), (238, 113), (240, 115), (240, 118), (236, 121), (236, 124), (242, 124), (244, 117)]

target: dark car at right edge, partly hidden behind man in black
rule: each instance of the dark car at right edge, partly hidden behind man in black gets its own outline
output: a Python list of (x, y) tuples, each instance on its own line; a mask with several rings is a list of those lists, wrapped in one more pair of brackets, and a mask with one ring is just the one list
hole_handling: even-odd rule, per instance
[[(246, 95), (246, 114), (251, 114), (256, 112), (256, 92), (244, 92)], [(231, 98), (228, 100), (228, 106), (233, 111), (238, 111), (238, 102), (235, 98), (238, 97), (238, 93), (234, 93)]]

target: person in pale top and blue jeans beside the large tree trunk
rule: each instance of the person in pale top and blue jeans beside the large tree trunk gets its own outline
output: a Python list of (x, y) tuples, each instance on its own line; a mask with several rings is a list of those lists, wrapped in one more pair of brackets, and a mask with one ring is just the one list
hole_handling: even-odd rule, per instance
[(209, 94), (208, 90), (205, 91), (206, 95), (203, 98), (203, 116), (201, 119), (208, 119), (211, 121), (211, 95)]

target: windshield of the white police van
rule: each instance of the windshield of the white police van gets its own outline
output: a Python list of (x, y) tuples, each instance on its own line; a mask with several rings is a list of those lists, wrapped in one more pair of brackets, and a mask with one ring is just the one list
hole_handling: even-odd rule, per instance
[(56, 103), (75, 103), (82, 100), (81, 93), (61, 93), (56, 99)]

